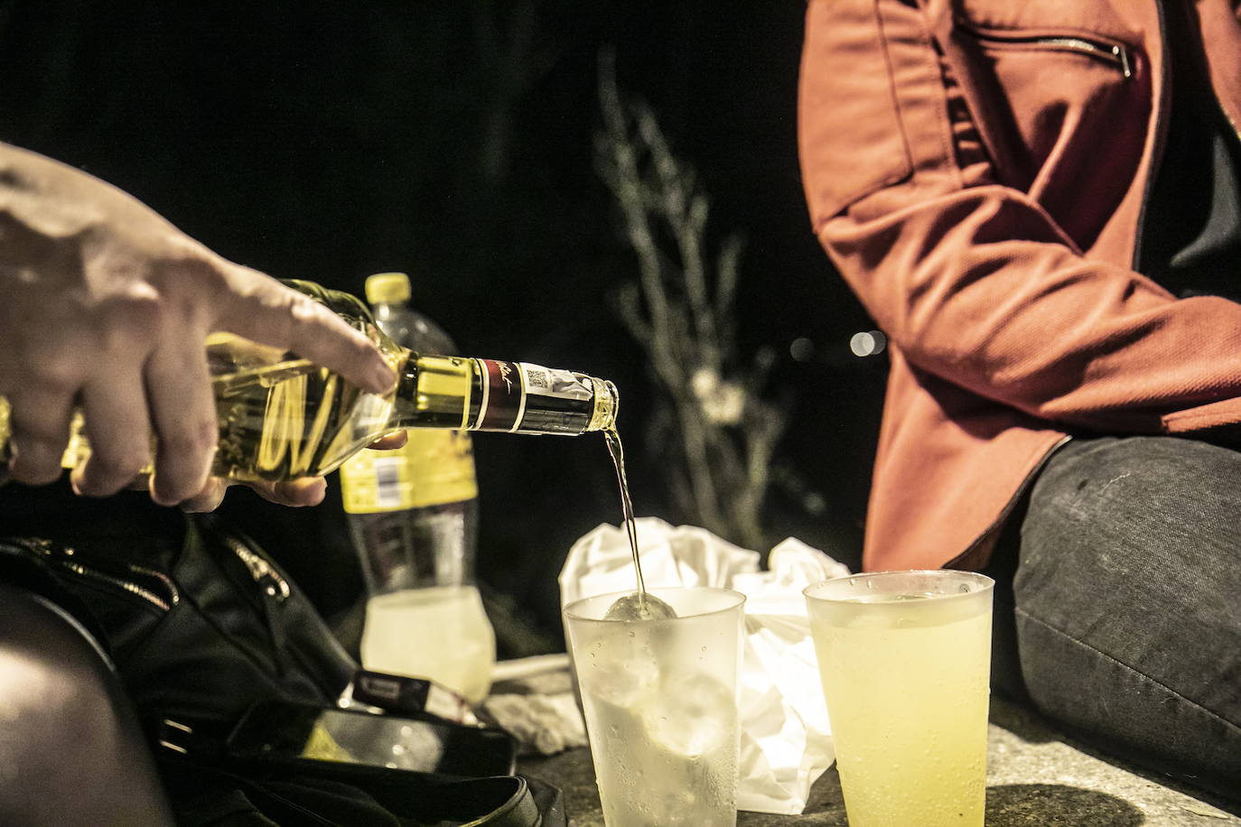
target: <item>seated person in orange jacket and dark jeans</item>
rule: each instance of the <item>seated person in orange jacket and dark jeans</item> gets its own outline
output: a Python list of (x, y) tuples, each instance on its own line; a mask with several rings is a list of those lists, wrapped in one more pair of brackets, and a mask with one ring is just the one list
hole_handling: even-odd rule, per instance
[(891, 342), (865, 568), (993, 574), (998, 688), (1232, 797), (1239, 78), (1226, 0), (812, 0), (799, 118)]

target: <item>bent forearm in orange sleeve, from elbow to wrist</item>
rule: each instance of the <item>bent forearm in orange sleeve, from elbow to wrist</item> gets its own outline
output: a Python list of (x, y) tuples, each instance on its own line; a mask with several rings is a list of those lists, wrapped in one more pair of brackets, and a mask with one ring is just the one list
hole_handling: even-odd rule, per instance
[(1020, 193), (973, 187), (866, 213), (862, 200), (820, 241), (927, 372), (1051, 422), (1145, 433), (1241, 394), (1241, 305), (1178, 300), (1083, 258)]

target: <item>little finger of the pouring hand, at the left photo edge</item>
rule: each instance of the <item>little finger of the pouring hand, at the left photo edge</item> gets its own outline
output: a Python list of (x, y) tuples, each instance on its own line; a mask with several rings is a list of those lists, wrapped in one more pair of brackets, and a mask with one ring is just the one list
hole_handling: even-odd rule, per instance
[(72, 397), (29, 388), (9, 398), (9, 477), (27, 485), (46, 485), (61, 476), (61, 458), (68, 444)]

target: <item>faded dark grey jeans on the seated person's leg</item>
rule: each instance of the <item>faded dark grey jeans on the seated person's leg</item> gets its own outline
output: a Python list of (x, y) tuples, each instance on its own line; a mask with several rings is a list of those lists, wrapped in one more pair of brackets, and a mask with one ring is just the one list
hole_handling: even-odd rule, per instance
[(988, 573), (998, 691), (1121, 758), (1241, 800), (1241, 453), (1073, 440)]

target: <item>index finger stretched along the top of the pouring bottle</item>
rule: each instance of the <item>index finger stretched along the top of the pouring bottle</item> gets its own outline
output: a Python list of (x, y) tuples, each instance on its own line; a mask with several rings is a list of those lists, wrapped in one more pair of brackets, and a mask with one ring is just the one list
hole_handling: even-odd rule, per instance
[(263, 345), (282, 347), (335, 371), (371, 393), (392, 389), (396, 374), (361, 331), (292, 288), (256, 270), (233, 265), (232, 288), (217, 315), (223, 330)]

